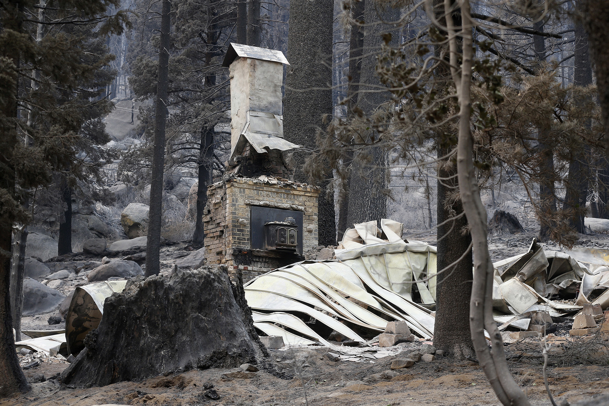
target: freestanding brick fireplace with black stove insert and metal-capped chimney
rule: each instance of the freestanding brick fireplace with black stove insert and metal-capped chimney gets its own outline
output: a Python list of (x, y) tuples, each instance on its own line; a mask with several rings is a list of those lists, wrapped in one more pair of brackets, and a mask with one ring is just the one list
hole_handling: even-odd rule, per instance
[(208, 187), (205, 258), (223, 263), (244, 282), (303, 260), (317, 246), (319, 188), (290, 180), (283, 151), (280, 51), (231, 44), (224, 60), (231, 78), (231, 158)]

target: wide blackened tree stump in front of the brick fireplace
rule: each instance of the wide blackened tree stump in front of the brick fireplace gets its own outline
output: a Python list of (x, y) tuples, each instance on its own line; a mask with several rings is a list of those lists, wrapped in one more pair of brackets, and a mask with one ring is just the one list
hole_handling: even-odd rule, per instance
[(232, 368), (268, 355), (225, 266), (138, 277), (108, 297), (63, 383), (103, 386), (165, 371)]

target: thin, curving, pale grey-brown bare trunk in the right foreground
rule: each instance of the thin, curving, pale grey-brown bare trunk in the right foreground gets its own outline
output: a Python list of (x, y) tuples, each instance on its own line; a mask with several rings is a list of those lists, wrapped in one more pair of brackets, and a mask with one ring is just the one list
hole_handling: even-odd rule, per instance
[[(520, 390), (507, 367), (503, 340), (493, 319), (493, 263), (488, 252), (487, 211), (480, 199), (478, 180), (474, 171), (474, 140), (470, 132), (471, 117), (471, 75), (473, 72), (473, 38), (471, 30), (473, 21), (470, 15), (468, 0), (459, 2), (462, 16), (462, 27), (455, 27), (452, 22), (450, 1), (445, 1), (446, 26), (449, 33), (449, 48), (452, 80), (457, 89), (459, 101), (459, 143), (457, 144), (457, 174), (459, 193), (463, 210), (471, 230), (474, 250), (474, 282), (470, 302), (471, 338), (476, 349), (478, 361), (493, 387), (495, 394), (504, 405), (529, 406), (530, 403)], [(463, 38), (462, 51), (457, 47), (457, 33)], [(457, 61), (462, 55), (461, 69)], [(491, 352), (484, 337), (487, 330), (491, 338)]]

